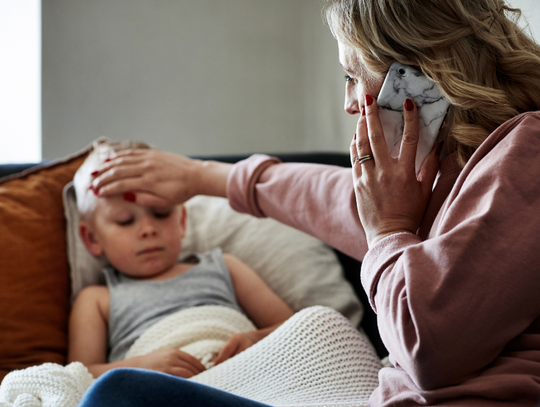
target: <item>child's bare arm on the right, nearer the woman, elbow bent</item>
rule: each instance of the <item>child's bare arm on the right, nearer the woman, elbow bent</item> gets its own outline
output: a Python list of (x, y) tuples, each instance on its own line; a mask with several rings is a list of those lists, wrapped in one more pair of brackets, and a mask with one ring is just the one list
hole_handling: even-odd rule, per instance
[(254, 345), (293, 315), (287, 304), (274, 293), (255, 271), (238, 258), (224, 254), (238, 305), (259, 328), (231, 336), (214, 363), (217, 365)]

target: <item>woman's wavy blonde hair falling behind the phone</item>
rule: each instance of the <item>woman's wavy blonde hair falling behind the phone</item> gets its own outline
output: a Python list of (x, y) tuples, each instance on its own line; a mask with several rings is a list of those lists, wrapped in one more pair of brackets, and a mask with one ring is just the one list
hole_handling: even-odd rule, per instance
[(506, 120), (540, 109), (540, 46), (503, 0), (326, 0), (323, 13), (370, 71), (398, 61), (437, 82), (462, 165)]

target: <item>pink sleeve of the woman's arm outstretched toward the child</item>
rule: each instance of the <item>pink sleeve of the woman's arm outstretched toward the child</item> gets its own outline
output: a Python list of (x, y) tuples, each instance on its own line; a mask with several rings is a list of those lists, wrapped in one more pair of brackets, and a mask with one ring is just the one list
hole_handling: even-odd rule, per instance
[(227, 196), (239, 212), (274, 218), (353, 258), (367, 252), (350, 168), (254, 155), (234, 165)]

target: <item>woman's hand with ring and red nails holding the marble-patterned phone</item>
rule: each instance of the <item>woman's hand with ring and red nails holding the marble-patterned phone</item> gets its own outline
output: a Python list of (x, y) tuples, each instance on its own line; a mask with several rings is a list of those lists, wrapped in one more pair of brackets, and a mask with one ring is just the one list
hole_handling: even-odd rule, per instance
[[(368, 247), (394, 233), (416, 233), (439, 169), (435, 146), (416, 175), (418, 111), (412, 100), (405, 102), (404, 113), (405, 130), (398, 157), (390, 156), (377, 102), (369, 95), (351, 143), (356, 205)], [(373, 159), (356, 161), (367, 155)]]

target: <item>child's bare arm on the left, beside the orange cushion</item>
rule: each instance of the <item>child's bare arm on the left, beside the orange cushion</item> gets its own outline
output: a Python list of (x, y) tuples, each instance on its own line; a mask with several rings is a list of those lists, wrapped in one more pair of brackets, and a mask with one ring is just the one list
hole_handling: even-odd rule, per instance
[(181, 377), (191, 377), (206, 368), (179, 349), (163, 349), (144, 356), (107, 363), (109, 290), (91, 286), (77, 296), (69, 319), (68, 361), (84, 364), (94, 377), (116, 367), (140, 367)]

